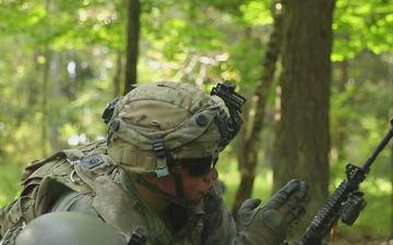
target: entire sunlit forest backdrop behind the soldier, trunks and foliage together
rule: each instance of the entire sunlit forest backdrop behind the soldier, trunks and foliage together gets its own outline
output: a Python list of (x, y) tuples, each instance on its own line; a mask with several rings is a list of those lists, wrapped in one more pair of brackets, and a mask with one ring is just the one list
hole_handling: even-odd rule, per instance
[[(218, 164), (226, 203), (299, 177), (305, 226), (388, 130), (392, 30), (392, 0), (0, 0), (0, 206), (33, 160), (105, 137), (105, 105), (135, 81), (231, 81), (249, 102)], [(361, 189), (366, 209), (333, 240), (393, 236), (393, 144)]]

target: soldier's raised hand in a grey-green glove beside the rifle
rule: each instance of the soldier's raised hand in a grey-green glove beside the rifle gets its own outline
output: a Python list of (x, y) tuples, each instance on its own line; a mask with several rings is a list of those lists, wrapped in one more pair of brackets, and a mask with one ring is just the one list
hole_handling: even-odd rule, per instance
[(239, 238), (243, 245), (279, 245), (287, 228), (306, 212), (310, 201), (308, 184), (289, 181), (263, 205), (260, 199), (248, 199), (238, 211)]

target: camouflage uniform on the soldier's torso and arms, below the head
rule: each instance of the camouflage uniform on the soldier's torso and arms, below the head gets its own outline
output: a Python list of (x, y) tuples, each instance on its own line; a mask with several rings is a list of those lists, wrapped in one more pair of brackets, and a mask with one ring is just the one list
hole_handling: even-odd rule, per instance
[(235, 242), (236, 228), (223, 204), (218, 184), (193, 209), (183, 210), (189, 216), (187, 224), (171, 234), (106, 151), (106, 142), (100, 140), (60, 151), (29, 166), (21, 197), (2, 210), (1, 234), (47, 212), (76, 211), (103, 219), (127, 238), (138, 226), (144, 228), (150, 234), (147, 244)]

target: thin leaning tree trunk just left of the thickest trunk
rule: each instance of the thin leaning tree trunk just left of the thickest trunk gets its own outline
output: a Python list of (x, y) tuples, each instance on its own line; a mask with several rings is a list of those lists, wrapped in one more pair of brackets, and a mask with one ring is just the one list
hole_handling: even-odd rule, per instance
[[(276, 61), (278, 60), (282, 44), (282, 13), (273, 11), (273, 30), (269, 39), (267, 50), (264, 54), (264, 61), (262, 64), (263, 74), (253, 95), (253, 101), (255, 102), (250, 107), (250, 110), (254, 110), (254, 113), (253, 115), (248, 113), (248, 118), (252, 117), (252, 119), (250, 119), (252, 121), (251, 130), (250, 133), (243, 133), (243, 137), (240, 139), (240, 150), (238, 151), (237, 158), (240, 167), (241, 179), (236, 193), (231, 210), (233, 213), (237, 213), (241, 203), (247, 198), (250, 198), (255, 179), (255, 167), (260, 148), (260, 135), (263, 128), (263, 119), (265, 115), (265, 106), (274, 81)], [(247, 131), (247, 128), (245, 131)]]

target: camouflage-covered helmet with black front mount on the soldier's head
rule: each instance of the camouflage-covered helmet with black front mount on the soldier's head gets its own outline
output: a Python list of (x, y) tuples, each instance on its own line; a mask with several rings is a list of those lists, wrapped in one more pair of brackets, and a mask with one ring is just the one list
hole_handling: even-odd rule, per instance
[(216, 159), (241, 123), (245, 99), (234, 88), (219, 84), (212, 96), (174, 82), (133, 88), (104, 111), (109, 156), (133, 173), (157, 176), (169, 174), (168, 156)]

